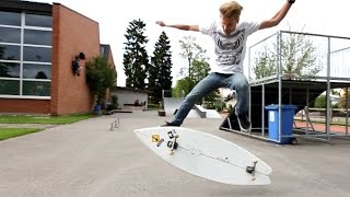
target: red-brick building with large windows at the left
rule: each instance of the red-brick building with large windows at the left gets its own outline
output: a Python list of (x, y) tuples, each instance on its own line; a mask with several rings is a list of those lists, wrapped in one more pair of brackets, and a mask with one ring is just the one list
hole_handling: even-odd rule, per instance
[(79, 59), (80, 76), (72, 71), (79, 55), (103, 55), (115, 66), (97, 22), (60, 3), (1, 0), (0, 113), (91, 112), (85, 60)]

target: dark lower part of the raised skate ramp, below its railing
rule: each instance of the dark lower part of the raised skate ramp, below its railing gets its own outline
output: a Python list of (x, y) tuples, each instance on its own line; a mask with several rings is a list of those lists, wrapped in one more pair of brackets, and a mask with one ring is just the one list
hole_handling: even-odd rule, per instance
[[(305, 107), (312, 106), (316, 97), (319, 96), (323, 92), (327, 90), (327, 82), (316, 82), (316, 81), (293, 81), (293, 80), (283, 80), (281, 81), (281, 105), (295, 105), (295, 114), (304, 109)], [(234, 113), (231, 113), (224, 121), (221, 124), (221, 130), (234, 131), (243, 135), (249, 135), (259, 139), (268, 140), (268, 112), (265, 109), (265, 106), (271, 104), (279, 104), (279, 82), (266, 84), (250, 84), (250, 121), (252, 121), (252, 131), (249, 134), (244, 134), (240, 130), (237, 117)], [(342, 89), (349, 88), (350, 82), (332, 82), (330, 89)], [(234, 112), (234, 111), (233, 111)], [(326, 126), (325, 126), (326, 127)], [(299, 128), (294, 128), (295, 135), (302, 137), (314, 137), (312, 132), (307, 130), (300, 132)], [(299, 132), (296, 132), (299, 130)], [(331, 130), (326, 132), (317, 132), (318, 137), (332, 136)], [(343, 132), (345, 134), (345, 132)], [(341, 135), (342, 136), (342, 135)], [(341, 137), (338, 135), (338, 137)], [(346, 134), (347, 137), (348, 132)]]

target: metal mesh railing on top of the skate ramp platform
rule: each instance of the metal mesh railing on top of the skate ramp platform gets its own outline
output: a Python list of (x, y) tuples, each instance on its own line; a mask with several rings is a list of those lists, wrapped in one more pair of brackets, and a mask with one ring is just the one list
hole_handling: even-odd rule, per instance
[(248, 79), (350, 80), (350, 38), (281, 31), (248, 49)]

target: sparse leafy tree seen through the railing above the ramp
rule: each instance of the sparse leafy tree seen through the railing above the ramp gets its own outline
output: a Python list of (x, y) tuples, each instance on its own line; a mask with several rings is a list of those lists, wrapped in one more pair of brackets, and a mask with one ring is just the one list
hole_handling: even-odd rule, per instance
[[(272, 76), (278, 72), (276, 44), (273, 49), (265, 47), (255, 58), (253, 68), (256, 79)], [(316, 47), (306, 35), (283, 33), (280, 43), (280, 60), (282, 74), (290, 77), (315, 76), (322, 70), (316, 62)]]

